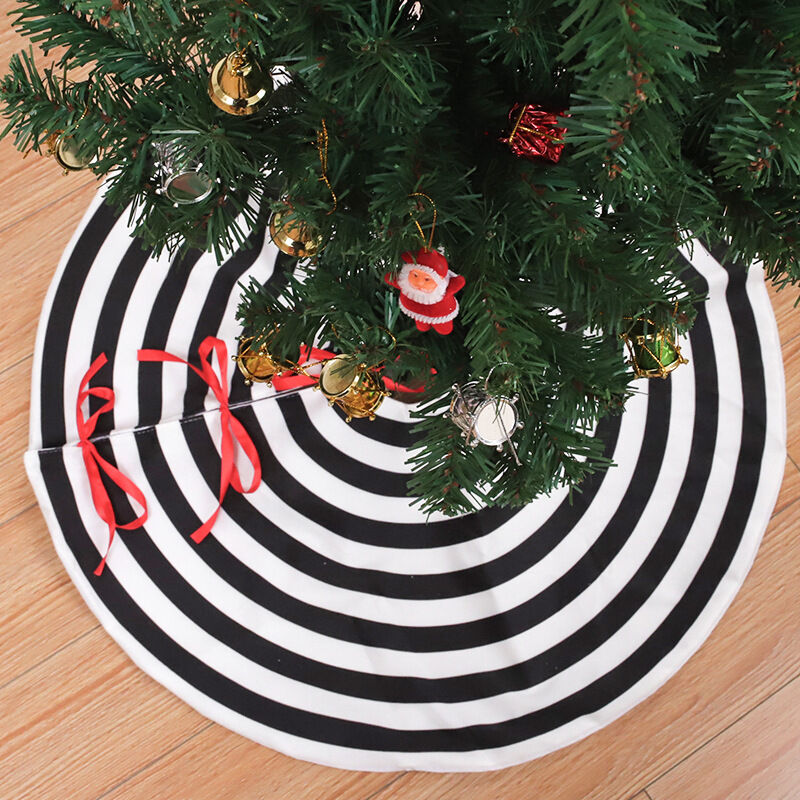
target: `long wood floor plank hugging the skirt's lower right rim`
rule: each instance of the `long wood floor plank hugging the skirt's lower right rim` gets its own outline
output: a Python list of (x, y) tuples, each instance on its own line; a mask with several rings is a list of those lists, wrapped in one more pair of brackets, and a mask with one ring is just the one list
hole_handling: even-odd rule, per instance
[[(800, 673), (800, 603), (788, 599), (791, 581), (800, 574), (798, 527), (800, 504), (773, 518), (744, 587), (706, 644), (655, 695), (616, 722), (499, 772), (409, 773), (378, 800), (527, 800), (531, 787), (547, 800), (629, 800)], [(760, 760), (756, 752), (751, 759)], [(702, 793), (694, 797), (707, 800)]]

